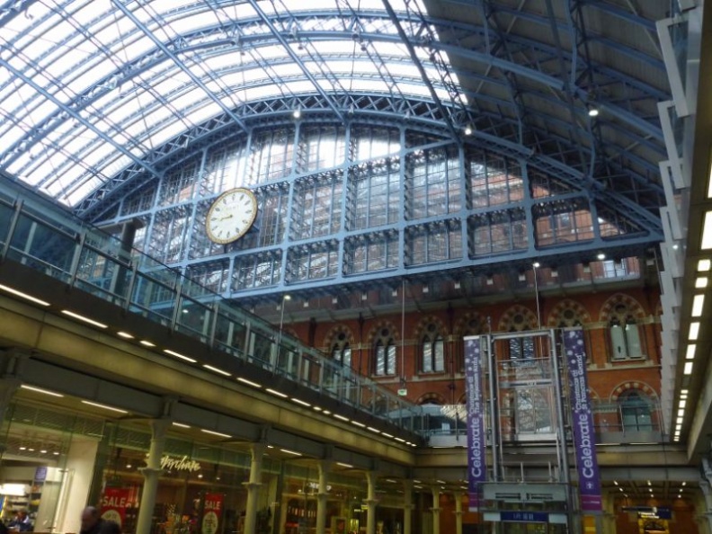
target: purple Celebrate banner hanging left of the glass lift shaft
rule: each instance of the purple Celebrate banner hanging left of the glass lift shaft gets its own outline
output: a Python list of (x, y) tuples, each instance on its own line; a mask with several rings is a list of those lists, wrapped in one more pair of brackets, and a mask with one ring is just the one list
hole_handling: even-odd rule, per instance
[(467, 398), (467, 492), (469, 511), (480, 506), (480, 485), (487, 478), (485, 462), (485, 404), (482, 400), (480, 338), (465, 338), (465, 394)]

